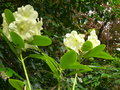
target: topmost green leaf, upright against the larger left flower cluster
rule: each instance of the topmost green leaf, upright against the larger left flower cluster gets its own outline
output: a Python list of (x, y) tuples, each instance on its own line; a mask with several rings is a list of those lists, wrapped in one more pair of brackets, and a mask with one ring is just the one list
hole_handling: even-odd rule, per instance
[(4, 14), (5, 14), (5, 19), (6, 19), (7, 23), (8, 23), (8, 25), (11, 22), (15, 21), (15, 17), (14, 17), (13, 13), (9, 9), (5, 9)]

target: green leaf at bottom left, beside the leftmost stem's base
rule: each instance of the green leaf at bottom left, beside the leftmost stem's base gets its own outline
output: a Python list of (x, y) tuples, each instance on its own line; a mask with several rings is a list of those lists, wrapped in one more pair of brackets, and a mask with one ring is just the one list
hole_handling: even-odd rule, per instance
[(16, 79), (9, 79), (9, 83), (17, 90), (23, 90), (24, 88), (24, 82)]

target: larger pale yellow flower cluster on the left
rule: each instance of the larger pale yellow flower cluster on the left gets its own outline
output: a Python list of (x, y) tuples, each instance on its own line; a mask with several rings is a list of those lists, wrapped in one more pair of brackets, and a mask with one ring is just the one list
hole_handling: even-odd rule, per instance
[[(33, 35), (41, 35), (42, 30), (42, 19), (39, 20), (37, 11), (31, 5), (26, 5), (18, 8), (16, 12), (13, 13), (15, 21), (7, 24), (5, 20), (4, 13), (3, 16), (3, 32), (10, 38), (10, 31), (16, 32), (20, 35), (23, 40), (29, 41), (32, 39)], [(29, 48), (29, 45), (26, 43), (25, 48)]]

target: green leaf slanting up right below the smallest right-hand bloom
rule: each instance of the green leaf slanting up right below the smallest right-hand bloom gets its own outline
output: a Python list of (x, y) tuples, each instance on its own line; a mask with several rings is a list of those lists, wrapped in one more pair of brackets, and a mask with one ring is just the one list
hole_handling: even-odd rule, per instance
[(94, 57), (97, 54), (99, 54), (101, 51), (103, 51), (105, 49), (105, 45), (101, 44), (98, 45), (97, 47), (91, 49), (90, 51), (88, 51), (85, 55), (84, 58), (90, 58), (90, 57)]

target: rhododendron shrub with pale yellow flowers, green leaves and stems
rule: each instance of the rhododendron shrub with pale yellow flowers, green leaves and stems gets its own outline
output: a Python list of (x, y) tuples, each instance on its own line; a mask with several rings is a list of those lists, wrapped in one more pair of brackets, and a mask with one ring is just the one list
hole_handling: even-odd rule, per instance
[[(53, 76), (58, 80), (58, 90), (61, 89), (61, 82), (64, 80), (63, 73), (66, 69), (70, 69), (71, 72), (69, 75), (75, 74), (72, 86), (72, 90), (75, 90), (77, 74), (92, 71), (93, 67), (98, 67), (83, 65), (81, 61), (84, 59), (91, 57), (114, 59), (104, 51), (105, 45), (100, 44), (95, 29), (91, 29), (87, 40), (85, 40), (85, 34), (78, 34), (76, 31), (65, 35), (63, 43), (66, 48), (68, 48), (68, 51), (61, 56), (59, 59), (60, 63), (58, 63), (58, 60), (48, 56), (38, 48), (38, 46), (48, 46), (52, 41), (49, 37), (41, 34), (41, 30), (43, 29), (42, 19), (38, 18), (37, 11), (35, 11), (31, 5), (22, 6), (13, 13), (6, 9), (2, 16), (3, 30), (0, 30), (1, 35), (17, 56), (18, 60), (22, 63), (26, 76), (27, 83), (26, 81), (9, 79), (9, 83), (17, 90), (32, 90), (32, 85), (30, 84), (29, 75), (27, 74), (24, 63), (27, 58), (37, 58), (46, 62)], [(37, 53), (35, 52), (23, 57), (22, 51), (26, 51), (26, 49), (29, 48), (37, 50)], [(10, 78), (12, 78), (12, 76)]]

